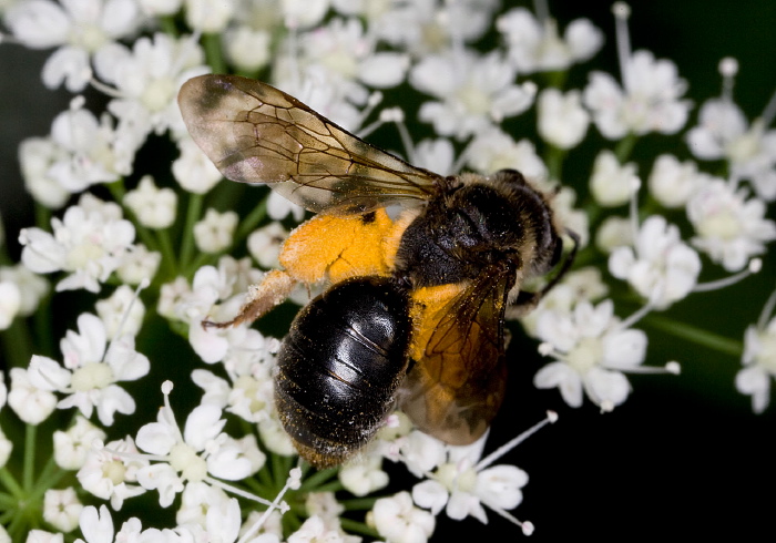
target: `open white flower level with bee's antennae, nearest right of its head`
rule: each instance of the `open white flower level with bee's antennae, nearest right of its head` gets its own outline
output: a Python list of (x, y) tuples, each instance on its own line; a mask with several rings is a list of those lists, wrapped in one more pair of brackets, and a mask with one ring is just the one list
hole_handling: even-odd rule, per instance
[(675, 225), (652, 215), (639, 229), (634, 248), (620, 247), (611, 254), (609, 270), (657, 309), (665, 309), (695, 287), (701, 258), (682, 242)]

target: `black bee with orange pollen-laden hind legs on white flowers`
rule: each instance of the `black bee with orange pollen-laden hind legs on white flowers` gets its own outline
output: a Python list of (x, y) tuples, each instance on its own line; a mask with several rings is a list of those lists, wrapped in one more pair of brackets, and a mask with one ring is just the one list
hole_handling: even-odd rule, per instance
[[(267, 184), (316, 213), (283, 245), (226, 327), (296, 284), (329, 287), (278, 354), (276, 406), (303, 458), (336, 465), (398, 407), (421, 431), (469, 444), (506, 393), (504, 313), (524, 314), (570, 268), (545, 196), (522, 174), (442, 176), (381, 151), (268, 84), (202, 75), (181, 89), (190, 134), (232, 181)], [(530, 278), (558, 268), (537, 291)]]

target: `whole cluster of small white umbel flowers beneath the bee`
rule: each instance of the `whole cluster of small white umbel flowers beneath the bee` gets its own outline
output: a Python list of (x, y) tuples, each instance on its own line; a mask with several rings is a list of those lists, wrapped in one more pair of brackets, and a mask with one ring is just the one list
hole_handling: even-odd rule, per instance
[[(554, 413), (488, 455), (484, 438), (448, 445), (396, 412), (340, 468), (298, 460), (273, 373), (288, 315), (315, 289), (294, 291), (292, 311), (254, 327), (201, 324), (235, 316), (305, 212), (267, 188), (222, 181), (176, 96), (195, 75), (239, 73), (359, 137), (392, 131), (394, 151), (415, 165), (442, 175), (515, 168), (553, 194), (559, 222), (581, 237), (576, 264), (509, 326), (545, 358), (537, 388), (557, 389), (545, 393), (572, 408), (611, 411), (632, 391), (629, 375), (681, 379), (666, 375), (680, 372), (677, 362), (649, 359), (640, 324), (658, 315), (665, 327), (674, 304), (746, 279), (776, 239), (766, 216), (776, 199), (776, 100), (748, 120), (733, 95), (737, 64), (725, 59), (719, 96), (694, 104), (672, 61), (631, 50), (623, 3), (607, 44), (620, 70), (598, 71), (603, 32), (585, 19), (561, 28), (538, 6), (3, 8), (2, 39), (49, 51), (42, 84), (73, 99), (48, 135), (19, 150), (38, 209), (34, 226), (4, 234), (18, 237), (20, 262), (0, 237), (0, 541), (415, 543), (441, 515), (484, 523), (493, 512), (530, 534), (532, 524), (510, 513), (528, 474), (499, 459)], [(572, 70), (589, 70), (583, 86), (561, 84)], [(104, 95), (104, 111), (85, 103), (88, 88)], [(530, 133), (510, 130), (522, 119), (535, 119)], [(646, 135), (677, 137), (682, 148), (630, 162)], [(598, 148), (581, 145), (590, 141)], [(578, 185), (562, 172), (570, 156), (586, 164)], [(753, 324), (732, 331), (742, 344), (731, 387), (756, 413), (776, 376), (776, 297), (759, 303)], [(704, 341), (692, 330), (685, 340)], [(397, 489), (399, 470), (411, 482)]]

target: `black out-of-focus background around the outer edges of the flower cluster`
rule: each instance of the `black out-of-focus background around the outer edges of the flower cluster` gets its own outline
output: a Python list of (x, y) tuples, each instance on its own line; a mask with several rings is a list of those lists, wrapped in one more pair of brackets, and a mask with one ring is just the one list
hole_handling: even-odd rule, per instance
[[(717, 63), (732, 55), (741, 65), (737, 103), (749, 119), (762, 113), (776, 90), (776, 3), (655, 0), (631, 6), (633, 49), (673, 60), (688, 81), (687, 96), (696, 105), (718, 95)], [(578, 17), (592, 19), (606, 34), (594, 64), (619, 76), (610, 2), (554, 1), (550, 11), (561, 29)], [(17, 146), (24, 137), (45, 135), (53, 116), (70, 100), (67, 93), (47, 91), (40, 82), (49, 54), (0, 45), (0, 73), (4, 74), (0, 78), (0, 208), (10, 238), (16, 238), (19, 227), (32, 224), (32, 206), (18, 174)], [(585, 72), (572, 72), (571, 86), (583, 86)], [(695, 114), (696, 110), (691, 123)], [(640, 143), (635, 160), (639, 153), (654, 156), (650, 143), (649, 137)], [(686, 153), (686, 147), (677, 143), (675, 153)], [(743, 339), (745, 327), (757, 319), (774, 288), (773, 260), (772, 255), (764, 272), (745, 285), (691, 296), (675, 308), (675, 315)], [(772, 534), (776, 406), (762, 416), (752, 413), (749, 398), (735, 391), (737, 359), (692, 344), (681, 344), (677, 351), (674, 339), (644, 329), (650, 336), (651, 363), (677, 359), (683, 373), (632, 377), (631, 398), (607, 414), (600, 414), (590, 402), (570, 409), (555, 390), (534, 390), (531, 380), (543, 361), (533, 355), (535, 345), (514, 338), (509, 351), (514, 360), (510, 395), (493, 426), (490, 447), (529, 428), (547, 409), (560, 413), (557, 424), (506, 459), (530, 475), (524, 502), (514, 514), (537, 525), (531, 541), (627, 541), (634, 535), (753, 541)], [(471, 519), (456, 523), (443, 516), (437, 541), (450, 535), (490, 539), (500, 533), (493, 529), (506, 530), (509, 540), (522, 537), (493, 513), (488, 532)]]

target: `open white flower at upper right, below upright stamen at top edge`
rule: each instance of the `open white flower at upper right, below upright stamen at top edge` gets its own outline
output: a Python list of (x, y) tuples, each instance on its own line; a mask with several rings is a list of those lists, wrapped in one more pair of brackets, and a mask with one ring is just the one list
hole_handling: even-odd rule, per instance
[(674, 134), (684, 126), (691, 103), (681, 100), (686, 83), (673, 62), (636, 51), (625, 60), (624, 70), (622, 86), (607, 73), (592, 72), (584, 90), (584, 104), (604, 137)]

